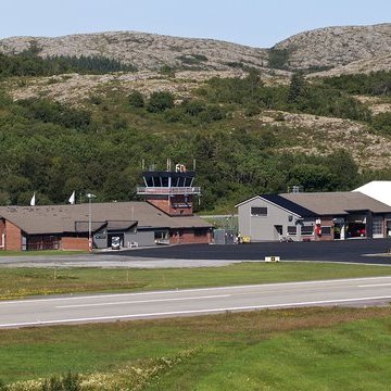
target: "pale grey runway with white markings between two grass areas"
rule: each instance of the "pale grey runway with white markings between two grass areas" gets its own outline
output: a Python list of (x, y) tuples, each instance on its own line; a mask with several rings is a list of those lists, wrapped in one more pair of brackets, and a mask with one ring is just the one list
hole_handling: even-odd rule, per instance
[(177, 317), (391, 300), (391, 277), (0, 302), (0, 328)]

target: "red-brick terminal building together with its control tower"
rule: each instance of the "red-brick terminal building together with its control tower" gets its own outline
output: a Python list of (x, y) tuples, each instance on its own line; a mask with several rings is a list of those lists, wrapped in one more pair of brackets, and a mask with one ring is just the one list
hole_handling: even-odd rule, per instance
[[(169, 167), (167, 167), (169, 168)], [(212, 225), (193, 214), (194, 172), (143, 173), (144, 201), (77, 205), (0, 206), (1, 250), (106, 249), (119, 238), (122, 248), (210, 243)]]

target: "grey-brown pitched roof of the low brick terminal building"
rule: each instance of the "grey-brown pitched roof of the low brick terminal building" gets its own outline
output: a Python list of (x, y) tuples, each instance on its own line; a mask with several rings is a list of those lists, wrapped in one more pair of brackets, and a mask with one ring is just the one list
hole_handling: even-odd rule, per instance
[[(0, 217), (13, 223), (27, 234), (75, 232), (76, 222), (89, 219), (88, 203), (48, 206), (0, 206)], [(105, 222), (109, 226), (139, 228), (209, 228), (211, 224), (198, 216), (171, 217), (148, 202), (91, 203), (92, 229)], [(118, 223), (119, 222), (119, 223)], [(121, 223), (122, 222), (122, 223)], [(80, 231), (80, 228), (77, 229)]]

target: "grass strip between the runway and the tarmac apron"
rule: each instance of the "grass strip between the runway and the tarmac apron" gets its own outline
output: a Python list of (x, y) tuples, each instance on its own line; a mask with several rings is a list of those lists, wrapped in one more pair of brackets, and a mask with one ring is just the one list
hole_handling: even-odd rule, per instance
[(0, 299), (391, 276), (391, 267), (332, 263), (242, 263), (169, 269), (0, 268)]

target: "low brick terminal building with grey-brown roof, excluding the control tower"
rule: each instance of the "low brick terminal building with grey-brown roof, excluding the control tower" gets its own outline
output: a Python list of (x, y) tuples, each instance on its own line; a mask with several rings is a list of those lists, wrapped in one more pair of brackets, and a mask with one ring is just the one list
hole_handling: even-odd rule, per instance
[(0, 206), (0, 245), (4, 250), (88, 250), (89, 218), (96, 249), (113, 237), (123, 247), (205, 243), (212, 226), (194, 215), (171, 216), (149, 202), (77, 205)]

